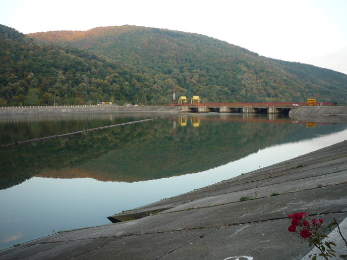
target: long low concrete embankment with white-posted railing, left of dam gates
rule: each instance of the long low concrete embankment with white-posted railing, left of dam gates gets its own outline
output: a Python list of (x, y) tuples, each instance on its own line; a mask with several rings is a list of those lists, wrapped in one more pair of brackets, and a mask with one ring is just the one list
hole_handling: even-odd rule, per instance
[(0, 108), (0, 115), (15, 114), (60, 114), (86, 112), (172, 112), (178, 113), (179, 106), (42, 106)]

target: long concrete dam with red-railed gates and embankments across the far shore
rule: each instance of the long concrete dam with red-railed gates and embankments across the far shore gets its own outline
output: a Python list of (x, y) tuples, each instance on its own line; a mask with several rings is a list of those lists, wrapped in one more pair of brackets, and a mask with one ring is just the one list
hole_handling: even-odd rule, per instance
[[(169, 112), (169, 113), (297, 113), (297, 114), (346, 114), (347, 106), (331, 103), (200, 103), (168, 104), (141, 106), (98, 106), (98, 105), (61, 105), (61, 106), (5, 106), (0, 107), (0, 115), (16, 114), (60, 114), (84, 112)], [(317, 111), (317, 112), (315, 112)]]

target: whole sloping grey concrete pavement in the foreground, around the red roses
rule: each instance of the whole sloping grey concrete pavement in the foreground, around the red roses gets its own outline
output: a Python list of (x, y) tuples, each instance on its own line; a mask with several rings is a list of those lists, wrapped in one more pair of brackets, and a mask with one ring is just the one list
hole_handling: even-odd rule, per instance
[[(302, 211), (325, 224), (335, 217), (347, 238), (347, 141), (109, 217), (129, 221), (2, 250), (0, 259), (301, 260), (312, 248), (288, 231), (288, 215)], [(339, 250), (347, 254), (343, 243)]]

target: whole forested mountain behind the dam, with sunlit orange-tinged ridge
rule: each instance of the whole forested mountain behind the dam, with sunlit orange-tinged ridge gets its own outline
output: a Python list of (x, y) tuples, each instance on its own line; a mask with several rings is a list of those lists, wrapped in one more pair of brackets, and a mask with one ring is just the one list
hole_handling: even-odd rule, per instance
[(198, 95), (202, 102), (302, 102), (310, 97), (347, 103), (346, 74), (266, 58), (199, 34), (124, 25), (35, 33), (19, 41), (2, 27), (0, 105), (1, 98), (2, 103), (27, 104), (28, 92), (40, 104), (167, 104), (173, 84), (177, 99)]

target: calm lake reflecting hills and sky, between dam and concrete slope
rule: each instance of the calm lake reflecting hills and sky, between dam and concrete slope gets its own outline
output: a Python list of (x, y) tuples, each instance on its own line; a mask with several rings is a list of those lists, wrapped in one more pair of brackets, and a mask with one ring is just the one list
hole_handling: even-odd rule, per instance
[[(138, 122), (149, 118), (158, 119)], [(329, 121), (231, 113), (0, 116), (0, 145), (54, 137), (0, 148), (0, 249), (108, 224), (123, 210), (344, 141), (346, 122)], [(104, 126), (112, 127), (57, 137)]]

